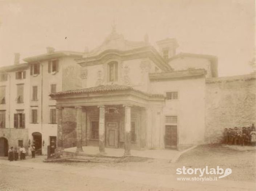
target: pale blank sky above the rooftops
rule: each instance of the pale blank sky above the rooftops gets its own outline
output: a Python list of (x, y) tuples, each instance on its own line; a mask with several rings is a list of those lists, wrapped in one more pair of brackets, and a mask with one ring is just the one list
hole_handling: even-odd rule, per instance
[[(254, 0), (0, 0), (0, 66), (58, 50), (101, 45), (115, 20), (126, 40), (176, 38), (177, 52), (211, 54), (219, 76), (251, 73)], [(65, 39), (65, 37), (67, 37)]]

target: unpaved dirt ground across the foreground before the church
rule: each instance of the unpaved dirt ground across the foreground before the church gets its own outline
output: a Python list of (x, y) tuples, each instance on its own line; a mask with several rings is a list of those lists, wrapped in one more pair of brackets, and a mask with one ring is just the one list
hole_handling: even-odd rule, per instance
[[(255, 149), (237, 150), (222, 145), (203, 145), (183, 154), (177, 163), (168, 160), (138, 160), (124, 163), (43, 163), (44, 157), (27, 159), (22, 162), (0, 164), (0, 190), (10, 191), (59, 191), (59, 190), (187, 190), (186, 185), (197, 186), (194, 190), (243, 190), (243, 185), (255, 182)], [(129, 160), (127, 160), (129, 161)], [(134, 161), (134, 160), (133, 160)], [(24, 163), (23, 163), (24, 162)], [(0, 161), (1, 163), (1, 161)], [(25, 165), (25, 163), (27, 163)], [(11, 166), (9, 166), (11, 164)], [(12, 164), (16, 166), (12, 166)], [(24, 165), (23, 165), (24, 164)], [(176, 168), (204, 168), (220, 166), (231, 168), (232, 174), (215, 186), (204, 186), (200, 182), (169, 181), (169, 176), (177, 176)], [(34, 167), (33, 167), (34, 166)], [(78, 170), (77, 170), (78, 169)], [(87, 173), (86, 173), (87, 172)], [(95, 174), (94, 174), (95, 172)], [(103, 173), (103, 174), (102, 174)], [(120, 174), (119, 174), (120, 173)], [(144, 173), (144, 175), (143, 175)], [(148, 177), (146, 177), (149, 175)], [(134, 178), (134, 176), (136, 176)], [(164, 182), (161, 182), (161, 178)], [(184, 175), (183, 175), (184, 176)], [(158, 178), (158, 180), (157, 180)], [(225, 182), (225, 180), (235, 180)], [(159, 182), (160, 181), (160, 182)], [(172, 182), (171, 182), (172, 181)], [(239, 181), (241, 188), (232, 188)], [(181, 183), (179, 186), (172, 184)], [(219, 184), (219, 185), (218, 185)], [(185, 186), (184, 186), (185, 185)], [(217, 185), (217, 186), (216, 186)], [(182, 187), (183, 186), (183, 187)], [(188, 190), (193, 190), (188, 186)], [(184, 189), (185, 188), (185, 189)]]

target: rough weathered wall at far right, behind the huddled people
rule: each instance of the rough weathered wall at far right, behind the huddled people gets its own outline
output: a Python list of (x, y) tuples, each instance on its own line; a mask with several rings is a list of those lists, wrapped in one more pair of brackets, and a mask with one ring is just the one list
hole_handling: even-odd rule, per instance
[(247, 127), (255, 122), (255, 75), (207, 80), (206, 142), (219, 142), (224, 128)]

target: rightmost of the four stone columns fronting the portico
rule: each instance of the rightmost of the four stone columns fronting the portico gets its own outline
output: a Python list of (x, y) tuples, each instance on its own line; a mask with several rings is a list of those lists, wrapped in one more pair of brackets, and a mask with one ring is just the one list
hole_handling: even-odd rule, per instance
[(131, 155), (131, 106), (125, 105), (125, 156)]

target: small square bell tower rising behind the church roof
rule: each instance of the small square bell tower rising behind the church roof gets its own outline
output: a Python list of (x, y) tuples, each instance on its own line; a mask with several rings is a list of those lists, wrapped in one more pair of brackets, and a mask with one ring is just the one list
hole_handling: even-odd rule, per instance
[(157, 45), (160, 53), (166, 60), (175, 56), (176, 49), (179, 47), (179, 44), (175, 38), (166, 38), (164, 40), (157, 41)]

